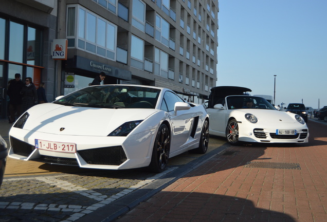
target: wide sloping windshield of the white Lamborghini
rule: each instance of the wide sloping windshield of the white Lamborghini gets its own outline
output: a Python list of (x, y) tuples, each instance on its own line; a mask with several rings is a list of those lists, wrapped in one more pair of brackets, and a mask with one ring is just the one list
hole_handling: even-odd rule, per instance
[(53, 103), (99, 108), (155, 108), (160, 89), (128, 85), (83, 88)]

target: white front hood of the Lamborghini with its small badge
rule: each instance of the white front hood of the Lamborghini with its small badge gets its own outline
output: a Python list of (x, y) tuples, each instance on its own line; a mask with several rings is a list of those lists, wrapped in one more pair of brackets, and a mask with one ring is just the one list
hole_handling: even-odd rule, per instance
[(58, 135), (107, 136), (125, 122), (144, 120), (156, 109), (90, 108), (44, 103), (33, 106), (24, 130)]

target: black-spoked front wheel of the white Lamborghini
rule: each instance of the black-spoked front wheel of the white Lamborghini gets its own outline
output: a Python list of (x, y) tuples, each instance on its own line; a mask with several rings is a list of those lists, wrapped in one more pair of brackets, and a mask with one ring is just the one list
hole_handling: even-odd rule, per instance
[(170, 132), (166, 124), (159, 127), (156, 139), (153, 145), (151, 162), (149, 170), (153, 173), (161, 173), (168, 164), (170, 152)]

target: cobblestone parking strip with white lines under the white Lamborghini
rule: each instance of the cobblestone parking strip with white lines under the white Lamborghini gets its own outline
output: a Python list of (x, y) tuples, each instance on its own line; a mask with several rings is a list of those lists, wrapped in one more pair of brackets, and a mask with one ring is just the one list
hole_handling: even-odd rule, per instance
[[(0, 133), (9, 146), (7, 120)], [(155, 192), (221, 152), (224, 139), (210, 138), (207, 154), (171, 158), (161, 174), (146, 169), (90, 170), (8, 158), (0, 189), (0, 222), (101, 221), (126, 212)], [(122, 210), (123, 209), (123, 210)], [(102, 219), (100, 214), (102, 213)], [(93, 216), (96, 215), (96, 216)], [(89, 218), (92, 218), (89, 220)], [(110, 219), (109, 219), (110, 220)], [(108, 219), (107, 219), (108, 221)]]

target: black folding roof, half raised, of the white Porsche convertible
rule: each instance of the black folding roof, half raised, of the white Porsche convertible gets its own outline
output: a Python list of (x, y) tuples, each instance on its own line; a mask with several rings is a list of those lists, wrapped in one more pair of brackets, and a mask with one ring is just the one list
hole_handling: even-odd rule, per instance
[(215, 104), (221, 103), (227, 96), (244, 95), (246, 92), (252, 91), (249, 88), (239, 86), (216, 86), (211, 88), (209, 95), (208, 108), (213, 107)]

